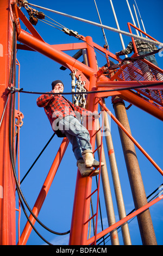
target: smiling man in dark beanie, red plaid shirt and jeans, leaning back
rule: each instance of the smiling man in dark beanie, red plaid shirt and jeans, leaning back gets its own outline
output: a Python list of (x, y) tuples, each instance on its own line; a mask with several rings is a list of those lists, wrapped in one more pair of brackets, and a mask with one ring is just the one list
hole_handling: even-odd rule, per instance
[[(93, 171), (91, 167), (97, 168), (99, 166), (99, 162), (93, 157), (89, 131), (80, 124), (76, 118), (75, 111), (87, 117), (91, 117), (92, 112), (74, 105), (61, 95), (62, 92), (64, 92), (64, 84), (62, 81), (53, 81), (52, 91), (50, 93), (59, 94), (42, 94), (37, 99), (37, 106), (45, 109), (45, 113), (52, 125), (52, 129), (57, 136), (68, 138), (72, 144), (72, 150), (77, 159), (77, 166), (80, 174), (85, 177), (90, 175)], [(97, 114), (93, 115), (97, 118)], [(101, 163), (101, 166), (103, 165), (104, 163)], [(98, 173), (99, 170), (95, 170), (92, 176), (95, 176)]]

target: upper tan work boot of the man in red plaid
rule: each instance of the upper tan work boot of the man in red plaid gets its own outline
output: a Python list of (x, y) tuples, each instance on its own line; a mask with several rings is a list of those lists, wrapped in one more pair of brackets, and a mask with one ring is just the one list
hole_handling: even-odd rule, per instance
[[(93, 157), (92, 150), (89, 150), (89, 149), (84, 150), (82, 153), (82, 156), (83, 156), (86, 168), (91, 168), (91, 167), (96, 168), (99, 166), (99, 162), (95, 160)], [(101, 166), (104, 166), (103, 162), (101, 162)]]

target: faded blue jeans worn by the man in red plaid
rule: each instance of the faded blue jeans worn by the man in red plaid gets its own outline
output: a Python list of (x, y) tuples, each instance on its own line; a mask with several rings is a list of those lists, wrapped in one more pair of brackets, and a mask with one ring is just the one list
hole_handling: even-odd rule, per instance
[(89, 131), (73, 115), (67, 115), (60, 119), (58, 127), (72, 144), (72, 150), (77, 161), (83, 160), (82, 152), (87, 149), (92, 150)]

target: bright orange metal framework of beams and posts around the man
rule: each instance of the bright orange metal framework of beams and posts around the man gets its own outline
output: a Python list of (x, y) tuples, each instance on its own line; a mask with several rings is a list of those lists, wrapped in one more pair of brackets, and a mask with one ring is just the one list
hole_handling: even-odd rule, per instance
[[(10, 5), (11, 4), (11, 5)], [(10, 45), (12, 45), (12, 39), (11, 39), (11, 32), (12, 32), (12, 16), (16, 25), (16, 35), (17, 40), (20, 41), (22, 44), (24, 44), (26, 48), (30, 48), (30, 50), (34, 50), (37, 52), (40, 52), (41, 54), (44, 54), (45, 56), (55, 60), (56, 62), (60, 63), (61, 65), (65, 66), (66, 68), (70, 69), (72, 72), (74, 70), (78, 70), (76, 76), (79, 74), (82, 74), (82, 77), (84, 80), (86, 80), (85, 88), (88, 91), (96, 91), (94, 94), (88, 94), (87, 95), (87, 109), (90, 111), (97, 111), (98, 110), (98, 103), (102, 104), (102, 101), (97, 101), (97, 98), (103, 97), (103, 96), (112, 96), (112, 95), (120, 95), (123, 99), (127, 100), (128, 102), (134, 104), (135, 106), (138, 106), (142, 108), (143, 110), (147, 111), (150, 114), (153, 114), (155, 117), (163, 120), (161, 109), (158, 109), (152, 103), (145, 101), (141, 99), (139, 96), (135, 95), (133, 92), (129, 90), (125, 90), (123, 92), (106, 92), (101, 93), (99, 92), (101, 89), (108, 90), (112, 88), (116, 88), (118, 90), (119, 87), (122, 87), (123, 83), (117, 82), (117, 81), (111, 81), (108, 77), (101, 75), (97, 75), (97, 65), (96, 65), (96, 56), (95, 56), (95, 48), (97, 48), (99, 51), (103, 52), (105, 56), (111, 57), (115, 60), (117, 60), (117, 57), (110, 53), (108, 50), (102, 48), (101, 46), (98, 46), (95, 44), (95, 42), (92, 41), (92, 38), (90, 36), (86, 36), (86, 38), (83, 37), (84, 42), (77, 43), (77, 44), (63, 44), (63, 45), (49, 45), (47, 44), (41, 36), (37, 33), (35, 28), (30, 24), (30, 22), (27, 20), (26, 16), (22, 13), (22, 11), (17, 7), (16, 3), (10, 0), (3, 0), (0, 4), (0, 19), (5, 14), (5, 19), (1, 19), (2, 24), (2, 31), (8, 31), (8, 35), (5, 37), (3, 36), (3, 47), (5, 47), (5, 58), (3, 60), (2, 67), (3, 70), (0, 70), (0, 76), (3, 78), (3, 83), (0, 84), (1, 86), (1, 94), (6, 92), (6, 88), (9, 85), (9, 71), (8, 66), (11, 62), (11, 51), (10, 48), (8, 48), (8, 41)], [(9, 9), (7, 9), (9, 7)], [(12, 7), (12, 10), (11, 10)], [(30, 33), (23, 31), (20, 26), (20, 20), (21, 19), (24, 24), (29, 29)], [(5, 27), (4, 27), (5, 24)], [(7, 27), (8, 26), (8, 27)], [(79, 62), (78, 60), (74, 59), (73, 57), (68, 56), (66, 53), (62, 52), (65, 50), (74, 50), (74, 49), (82, 49), (86, 48), (87, 50), (87, 59), (89, 62), (89, 66), (86, 66), (85, 64)], [(7, 57), (8, 56), (8, 57)], [(6, 72), (8, 71), (8, 72)], [(6, 77), (4, 77), (4, 74)], [(98, 72), (99, 74), (99, 72)], [(152, 82), (150, 82), (152, 83)], [(5, 86), (3, 86), (5, 84)], [(130, 85), (132, 83), (126, 83), (126, 85)], [(135, 84), (140, 85), (135, 82)], [(157, 89), (156, 87), (154, 87)], [(159, 89), (162, 89), (163, 86), (158, 86)], [(7, 93), (5, 93), (4, 96), (4, 102), (7, 100)], [(103, 106), (103, 105), (102, 105)], [(1, 98), (1, 104), (0, 104), (0, 110), (1, 113), (3, 112), (4, 103)], [(19, 107), (18, 107), (19, 108)], [(103, 108), (107, 110), (103, 106)], [(18, 109), (20, 111), (20, 109)], [(3, 159), (0, 159), (1, 162), (4, 163), (3, 167), (1, 167), (1, 176), (0, 181), (1, 184), (3, 184), (4, 187), (4, 199), (1, 200), (1, 244), (2, 245), (10, 245), (15, 244), (15, 185), (14, 185), (14, 178), (11, 175), (11, 167), (10, 167), (10, 157), (9, 157), (9, 150), (8, 150), (8, 135), (5, 133), (6, 127), (8, 127), (8, 111), (5, 113), (5, 117), (3, 120), (3, 125), (1, 126), (0, 131), (0, 138), (3, 143), (1, 144), (1, 150), (4, 153)], [(111, 116), (118, 125), (120, 125), (121, 129), (123, 129), (124, 132), (127, 133), (127, 131), (124, 129), (124, 127), (118, 122), (118, 120), (114, 117), (114, 115)], [(93, 127), (95, 127), (96, 120), (93, 121)], [(18, 119), (18, 127), (20, 126), (20, 119)], [(96, 132), (96, 129), (92, 129), (90, 131), (90, 137), (91, 137), (91, 144), (92, 149), (95, 150), (95, 136), (93, 136)], [(128, 133), (127, 133), (128, 135)], [(19, 135), (18, 135), (19, 136)], [(128, 135), (130, 136), (130, 135)], [(133, 142), (136, 144), (136, 146), (142, 151), (143, 154), (148, 158), (149, 161), (154, 164), (155, 168), (159, 170), (159, 172), (162, 174), (162, 170), (157, 166), (157, 164), (151, 159), (151, 157), (148, 156), (148, 154), (141, 148), (141, 146), (135, 141), (133, 137), (130, 136), (130, 138), (133, 140)], [(19, 139), (19, 137), (18, 137)], [(42, 186), (42, 189), (40, 191), (39, 196), (37, 197), (36, 203), (33, 208), (33, 212), (36, 216), (38, 216), (39, 211), (41, 209), (41, 206), (46, 198), (46, 195), (48, 193), (49, 187), (52, 184), (52, 181), (54, 179), (55, 173), (57, 172), (57, 169), (59, 167), (59, 164), (61, 162), (62, 156), (65, 153), (65, 150), (68, 145), (68, 140), (66, 138), (63, 139), (60, 148), (58, 150), (58, 153), (54, 159), (54, 162), (52, 164), (51, 169), (49, 170), (49, 173), (47, 175), (47, 178)], [(102, 145), (102, 141), (101, 141)], [(18, 149), (19, 151), (19, 149)], [(2, 156), (1, 156), (2, 157)], [(19, 159), (19, 157), (18, 157)], [(19, 160), (18, 160), (19, 161)], [(18, 166), (18, 169), (20, 169), (20, 166)], [(7, 172), (8, 170), (8, 172)], [(100, 176), (100, 175), (99, 175)], [(100, 178), (99, 178), (100, 179)], [(90, 195), (91, 195), (91, 185), (92, 185), (92, 178), (86, 177), (82, 178), (79, 171), (77, 173), (77, 180), (76, 180), (76, 191), (74, 196), (74, 205), (73, 205), (73, 214), (72, 214), (72, 222), (71, 222), (71, 230), (70, 230), (70, 245), (87, 245), (90, 243), (96, 244), (96, 239), (101, 237), (103, 233), (108, 233), (108, 231), (111, 231), (115, 228), (115, 225), (112, 225), (110, 228), (103, 231), (103, 233), (100, 233), (96, 235), (95, 237), (92, 237), (91, 239), (87, 240), (87, 229), (88, 229), (88, 221), (89, 221), (89, 209), (90, 209)], [(8, 194), (7, 189), (10, 187), (10, 194)], [(99, 186), (97, 190), (97, 198), (99, 195)], [(153, 200), (153, 202), (149, 205), (143, 206), (143, 208), (135, 211), (132, 216), (135, 216), (142, 212), (143, 210), (147, 209), (149, 206), (151, 206), (153, 203), (158, 202), (159, 199)], [(98, 201), (98, 200), (97, 200)], [(19, 209), (20, 211), (20, 209)], [(6, 214), (7, 212), (7, 214)], [(98, 204), (97, 204), (97, 212), (98, 212)], [(121, 225), (122, 223), (127, 221), (126, 217), (125, 220), (121, 220), (120, 222), (116, 223), (116, 227), (118, 225)], [(33, 216), (30, 216), (30, 221), (34, 224), (35, 219)], [(96, 213), (97, 218), (97, 213)], [(19, 245), (25, 245), (27, 243), (28, 237), (30, 235), (30, 232), (32, 231), (32, 227), (27, 222), (26, 226), (24, 227), (24, 230), (22, 234), (20, 235), (19, 230)]]

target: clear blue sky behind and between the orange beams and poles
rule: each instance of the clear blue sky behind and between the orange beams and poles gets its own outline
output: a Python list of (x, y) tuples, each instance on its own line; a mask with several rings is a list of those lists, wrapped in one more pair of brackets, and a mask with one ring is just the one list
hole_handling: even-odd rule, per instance
[[(98, 15), (93, 0), (83, 1), (43, 1), (35, 0), (29, 1), (30, 3), (40, 5), (49, 9), (57, 10), (62, 13), (71, 14), (73, 16), (82, 17), (83, 19), (95, 21), (99, 23)], [(110, 1), (96, 1), (101, 20), (104, 25), (116, 28), (114, 15), (112, 14)], [(126, 0), (112, 0), (116, 11), (117, 19), (120, 25), (120, 29), (128, 31), (127, 22), (132, 22), (129, 14)], [(130, 7), (133, 11), (134, 0), (129, 0)], [(143, 23), (146, 28), (146, 32), (152, 35), (153, 38), (160, 42), (163, 42), (162, 36), (162, 0), (137, 0), (136, 1)], [(39, 10), (39, 9), (38, 9)], [(26, 10), (22, 9), (23, 13), (28, 14)], [(41, 11), (41, 10), (40, 10)], [(43, 11), (47, 16), (61, 23), (65, 27), (77, 31), (84, 36), (92, 36), (93, 41), (98, 45), (103, 46), (105, 44), (102, 29), (81, 21), (76, 21), (68, 17), (64, 17), (58, 14), (53, 14), (47, 11)], [(134, 14), (134, 11), (133, 11)], [(135, 15), (134, 15), (135, 17)], [(136, 20), (136, 19), (135, 19)], [(22, 25), (22, 28), (24, 26)], [(68, 36), (58, 29), (45, 25), (42, 22), (38, 22), (36, 27), (42, 38), (48, 44), (66, 44), (72, 42), (78, 42), (79, 40)], [(142, 26), (141, 26), (142, 28)], [(108, 40), (110, 52), (115, 53), (122, 50), (120, 37), (117, 33), (111, 32), (105, 29), (106, 38)], [(123, 36), (124, 44), (127, 46), (130, 38)], [(73, 56), (75, 52), (67, 52)], [(105, 58), (98, 56), (98, 65), (102, 66), (106, 63)], [(162, 59), (156, 55), (156, 60), (160, 68), (163, 68)], [(54, 80), (62, 80), (65, 85), (65, 92), (71, 92), (71, 76), (70, 70), (60, 70), (60, 64), (55, 63), (51, 59), (42, 56), (37, 52), (21, 51), (17, 52), (18, 62), (21, 64), (21, 84), (24, 90), (34, 92), (49, 92), (51, 90), (51, 83)], [(49, 138), (51, 138), (53, 131), (45, 112), (42, 108), (36, 106), (36, 99), (39, 95), (21, 94), (20, 110), (24, 114), (23, 126), (21, 128), (21, 179), (26, 174), (29, 167), (32, 165), (37, 155), (39, 155), (42, 148), (45, 146)], [(71, 100), (71, 96), (67, 96)], [(111, 105), (110, 97), (106, 99), (106, 105), (110, 111), (114, 113), (114, 109)], [(126, 102), (128, 106), (128, 102)], [(127, 111), (128, 119), (131, 127), (133, 137), (140, 143), (140, 145), (147, 151), (147, 153), (154, 159), (154, 161), (162, 168), (162, 122), (148, 113), (143, 112), (141, 109), (132, 106)], [(131, 190), (126, 170), (126, 164), (124, 162), (124, 156), (122, 152), (120, 136), (118, 133), (117, 125), (114, 121), (111, 121), (111, 133), (114, 143), (114, 149), (117, 160), (117, 167), (120, 174), (122, 192), (124, 197), (124, 203), (126, 206), (127, 214), (134, 209), (133, 198), (131, 196)], [(28, 174), (27, 178), (23, 181), (21, 187), (26, 197), (30, 208), (36, 201), (36, 198), (41, 190), (46, 175), (51, 168), (51, 164), (54, 160), (55, 154), (58, 151), (61, 139), (55, 136), (48, 148), (42, 154), (37, 161), (33, 169)], [(137, 157), (140, 164), (142, 173), (142, 179), (145, 186), (145, 191), (151, 194), (155, 188), (162, 184), (161, 174), (148, 162), (145, 156), (140, 153), (136, 148)], [(118, 211), (115, 202), (114, 188), (112, 185), (112, 178), (110, 172), (110, 165), (108, 157), (106, 156), (106, 163), (109, 172), (110, 186), (112, 190), (112, 199), (115, 207), (116, 221), (118, 218)], [(71, 145), (68, 145), (64, 159), (61, 162), (58, 173), (55, 176), (53, 184), (49, 190), (45, 203), (39, 214), (39, 219), (47, 225), (47, 227), (58, 231), (64, 232), (70, 229), (71, 216), (73, 208), (74, 189), (76, 186), (76, 159), (73, 156)], [(102, 188), (102, 184), (101, 184)], [(107, 227), (108, 221), (106, 218), (106, 210), (104, 206), (103, 193), (100, 194), (102, 204), (102, 217), (104, 228)], [(162, 200), (151, 207), (150, 209), (153, 225), (155, 229), (156, 239), (159, 245), (162, 245)], [(21, 231), (26, 224), (26, 217), (24, 217), (23, 211), (21, 213)], [(100, 226), (100, 223), (99, 223)], [(35, 224), (36, 229), (54, 245), (67, 245), (68, 236), (56, 236), (42, 227), (39, 224)], [(136, 218), (129, 223), (129, 230), (131, 236), (131, 242), (133, 245), (141, 245), (141, 237)], [(123, 245), (121, 231), (118, 233), (120, 244)], [(42, 245), (44, 242), (36, 235), (35, 231), (32, 231), (27, 245)], [(110, 245), (110, 241), (107, 243)]]

